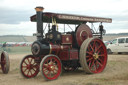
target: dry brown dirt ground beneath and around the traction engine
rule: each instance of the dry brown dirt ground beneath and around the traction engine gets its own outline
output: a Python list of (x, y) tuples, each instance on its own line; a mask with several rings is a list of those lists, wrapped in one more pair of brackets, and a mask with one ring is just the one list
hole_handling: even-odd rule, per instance
[(45, 81), (39, 73), (35, 78), (21, 76), (20, 61), (27, 54), (10, 54), (10, 71), (3, 74), (0, 70), (0, 85), (128, 85), (128, 54), (108, 55), (105, 70), (99, 74), (86, 74), (82, 69), (63, 72), (54, 81)]

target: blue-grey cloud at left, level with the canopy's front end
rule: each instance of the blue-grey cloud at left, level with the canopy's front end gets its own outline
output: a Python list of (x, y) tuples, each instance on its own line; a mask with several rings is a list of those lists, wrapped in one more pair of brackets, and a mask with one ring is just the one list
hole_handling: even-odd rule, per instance
[(20, 22), (29, 21), (31, 12), (28, 10), (15, 10), (9, 8), (1, 8), (0, 24), (19, 24)]

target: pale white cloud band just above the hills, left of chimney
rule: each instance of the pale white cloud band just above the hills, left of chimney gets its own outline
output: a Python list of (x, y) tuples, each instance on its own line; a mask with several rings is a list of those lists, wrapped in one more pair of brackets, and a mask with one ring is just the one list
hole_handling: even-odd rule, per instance
[(36, 33), (36, 23), (21, 22), (19, 24), (0, 24), (0, 35), (32, 35)]

